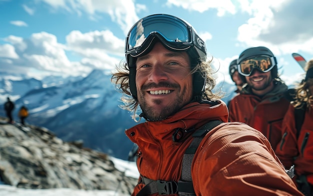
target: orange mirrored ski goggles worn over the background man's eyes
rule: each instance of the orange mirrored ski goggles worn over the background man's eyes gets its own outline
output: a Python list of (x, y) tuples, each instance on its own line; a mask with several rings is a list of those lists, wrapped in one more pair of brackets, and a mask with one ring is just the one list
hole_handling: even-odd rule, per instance
[(254, 56), (242, 60), (238, 64), (238, 72), (243, 76), (250, 76), (254, 69), (266, 73), (276, 65), (274, 57)]

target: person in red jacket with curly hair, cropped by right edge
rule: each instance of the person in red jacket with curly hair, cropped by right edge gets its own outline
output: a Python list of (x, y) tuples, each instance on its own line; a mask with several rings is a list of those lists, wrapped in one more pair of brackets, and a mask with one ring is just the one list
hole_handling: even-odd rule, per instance
[(296, 86), (295, 100), (282, 121), (276, 154), (286, 168), (294, 165), (298, 189), (313, 196), (313, 59), (306, 62), (305, 70), (305, 79)]

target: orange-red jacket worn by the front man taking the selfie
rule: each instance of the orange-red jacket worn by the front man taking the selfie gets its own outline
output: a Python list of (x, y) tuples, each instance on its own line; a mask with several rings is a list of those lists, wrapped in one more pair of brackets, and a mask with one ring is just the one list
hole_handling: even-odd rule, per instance
[[(198, 129), (216, 119), (228, 120), (223, 102), (215, 106), (194, 102), (166, 120), (148, 121), (126, 130), (139, 147), (140, 175), (178, 182), (182, 156), (192, 137), (181, 132), (183, 142), (173, 142), (173, 133), (177, 128)], [(191, 176), (196, 196), (301, 196), (268, 140), (243, 123), (222, 123), (203, 138), (194, 154)], [(144, 186), (140, 177), (138, 182), (132, 196)]]

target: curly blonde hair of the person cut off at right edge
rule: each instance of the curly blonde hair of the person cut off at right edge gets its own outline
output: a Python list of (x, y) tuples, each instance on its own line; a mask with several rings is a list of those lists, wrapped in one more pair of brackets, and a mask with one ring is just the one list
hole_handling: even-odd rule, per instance
[[(305, 72), (307, 72), (308, 69), (311, 69), (313, 67), (313, 59), (306, 62), (305, 65)], [(313, 85), (313, 78), (308, 78), (306, 81), (302, 80), (300, 83), (298, 83), (295, 87), (295, 100), (291, 102), (291, 104), (295, 108), (302, 108), (306, 105), (307, 108), (311, 108), (311, 104), (313, 102), (313, 95), (309, 91), (309, 87)]]

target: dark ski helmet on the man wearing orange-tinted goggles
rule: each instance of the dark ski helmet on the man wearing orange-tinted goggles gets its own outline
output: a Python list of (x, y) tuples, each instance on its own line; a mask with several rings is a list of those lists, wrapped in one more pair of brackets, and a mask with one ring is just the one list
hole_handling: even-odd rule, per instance
[[(270, 74), (271, 74), (272, 79), (278, 78), (278, 68), (277, 68), (276, 57), (274, 56), (274, 54), (267, 47), (264, 47), (264, 46), (251, 47), (251, 48), (247, 48), (247, 49), (243, 50), (241, 52), (241, 54), (239, 55), (238, 59), (237, 59), (238, 69), (240, 69), (240, 62), (242, 62), (243, 60), (246, 60), (248, 58), (252, 58), (252, 57), (255, 57), (255, 56), (260, 56), (260, 55), (262, 55), (262, 56), (269, 56), (269, 57), (273, 57), (274, 58), (275, 65), (270, 70)], [(244, 83), (246, 83), (245, 76), (243, 76), (241, 74), (239, 74), (239, 76), (242, 79), (242, 81)]]

